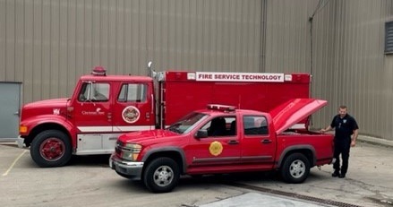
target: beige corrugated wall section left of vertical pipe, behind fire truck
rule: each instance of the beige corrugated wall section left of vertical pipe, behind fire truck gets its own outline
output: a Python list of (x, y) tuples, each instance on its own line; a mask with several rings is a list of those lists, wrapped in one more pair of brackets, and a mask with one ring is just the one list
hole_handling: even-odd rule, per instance
[(261, 11), (261, 0), (0, 0), (0, 82), (23, 82), (26, 103), (71, 95), (94, 65), (258, 72)]

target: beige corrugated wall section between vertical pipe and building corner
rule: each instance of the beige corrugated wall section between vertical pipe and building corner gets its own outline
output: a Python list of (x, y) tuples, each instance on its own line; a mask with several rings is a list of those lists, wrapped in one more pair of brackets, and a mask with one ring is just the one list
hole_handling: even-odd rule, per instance
[(309, 72), (309, 2), (268, 1), (265, 65), (267, 72)]

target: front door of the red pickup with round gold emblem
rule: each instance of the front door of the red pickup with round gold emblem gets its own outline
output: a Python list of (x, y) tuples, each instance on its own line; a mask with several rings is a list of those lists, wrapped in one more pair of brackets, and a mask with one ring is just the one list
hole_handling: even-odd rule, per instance
[(205, 173), (220, 172), (239, 164), (241, 146), (231, 125), (235, 125), (235, 116), (216, 116), (201, 127), (208, 131), (208, 137), (195, 139), (186, 153), (191, 159), (191, 173), (199, 168)]

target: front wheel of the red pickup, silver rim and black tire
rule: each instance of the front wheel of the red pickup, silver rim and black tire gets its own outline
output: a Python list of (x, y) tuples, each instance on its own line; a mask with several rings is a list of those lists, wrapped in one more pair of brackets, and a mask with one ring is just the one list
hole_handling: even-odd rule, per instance
[(143, 171), (143, 183), (154, 193), (172, 191), (179, 179), (179, 166), (170, 158), (151, 160)]

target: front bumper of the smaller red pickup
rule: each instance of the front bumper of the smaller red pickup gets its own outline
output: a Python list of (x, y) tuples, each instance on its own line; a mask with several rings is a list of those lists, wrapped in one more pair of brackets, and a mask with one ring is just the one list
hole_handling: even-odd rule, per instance
[(114, 169), (122, 177), (132, 180), (140, 180), (144, 162), (124, 161), (115, 154), (109, 159), (109, 167)]

